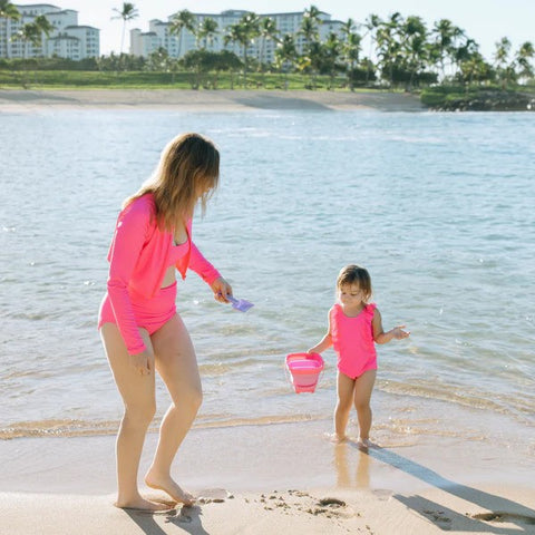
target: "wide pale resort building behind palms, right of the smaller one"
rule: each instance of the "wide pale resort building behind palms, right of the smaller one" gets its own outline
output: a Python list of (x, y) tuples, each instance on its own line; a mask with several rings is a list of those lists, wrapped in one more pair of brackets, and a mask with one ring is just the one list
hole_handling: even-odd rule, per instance
[[(242, 47), (235, 42), (225, 45), (225, 36), (228, 32), (228, 27), (240, 22), (240, 19), (246, 13), (247, 11), (242, 10), (226, 10), (218, 14), (193, 13), (197, 28), (202, 27), (205, 19), (213, 19), (217, 23), (215, 36), (206, 40), (206, 42), (204, 42), (204, 40), (200, 42), (200, 39), (187, 29), (183, 29), (179, 36), (171, 33), (169, 27), (174, 17), (173, 14), (167, 18), (167, 22), (157, 19), (150, 20), (147, 32), (142, 32), (138, 28), (130, 30), (130, 54), (147, 57), (158, 48), (164, 48), (172, 58), (182, 58), (188, 51), (202, 47), (215, 52), (230, 50), (236, 54), (236, 56), (242, 57)], [(302, 54), (305, 38), (300, 30), (304, 14), (304, 11), (300, 11), (292, 13), (264, 13), (259, 14), (259, 17), (261, 20), (272, 19), (275, 22), (280, 37), (286, 33), (294, 36), (298, 51)], [(321, 21), (318, 25), (320, 40), (325, 40), (331, 32), (341, 35), (343, 22), (331, 20), (331, 16), (323, 11), (320, 12), (319, 18)], [(257, 58), (263, 62), (272, 62), (274, 60), (275, 49), (276, 42), (272, 39), (259, 37), (247, 48), (247, 56)]]

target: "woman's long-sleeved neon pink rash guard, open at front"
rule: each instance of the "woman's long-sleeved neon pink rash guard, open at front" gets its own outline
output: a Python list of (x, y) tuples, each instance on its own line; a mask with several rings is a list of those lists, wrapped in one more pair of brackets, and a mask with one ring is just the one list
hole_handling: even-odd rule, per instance
[(132, 308), (132, 299), (136, 294), (153, 298), (159, 291), (167, 269), (173, 264), (182, 279), (186, 278), (188, 269), (207, 284), (221, 276), (192, 242), (192, 220), (187, 221), (186, 232), (188, 246), (184, 244), (179, 247), (182, 254), (177, 259), (173, 233), (158, 228), (152, 193), (136, 198), (117, 218), (108, 253), (107, 286), (117, 327), (130, 354), (145, 350)]

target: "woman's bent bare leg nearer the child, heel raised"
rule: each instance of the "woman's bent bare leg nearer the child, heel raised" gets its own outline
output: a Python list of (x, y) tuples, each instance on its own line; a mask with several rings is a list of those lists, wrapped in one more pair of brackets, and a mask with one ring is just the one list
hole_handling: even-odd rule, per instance
[(159, 429), (159, 440), (145, 483), (165, 490), (186, 505), (193, 497), (171, 477), (171, 465), (201, 407), (203, 392), (197, 359), (189, 334), (178, 314), (152, 335), (156, 369), (172, 397)]

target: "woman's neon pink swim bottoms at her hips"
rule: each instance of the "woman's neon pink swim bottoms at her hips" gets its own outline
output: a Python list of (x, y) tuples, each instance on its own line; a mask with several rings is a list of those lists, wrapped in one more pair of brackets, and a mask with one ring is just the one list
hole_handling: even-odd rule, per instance
[[(130, 293), (130, 301), (137, 325), (146, 329), (149, 334), (153, 334), (176, 314), (176, 281), (169, 286), (162, 288), (158, 293), (150, 299)], [(98, 329), (100, 329), (104, 323), (117, 324), (114, 309), (111, 308), (111, 302), (107, 293), (98, 311)]]

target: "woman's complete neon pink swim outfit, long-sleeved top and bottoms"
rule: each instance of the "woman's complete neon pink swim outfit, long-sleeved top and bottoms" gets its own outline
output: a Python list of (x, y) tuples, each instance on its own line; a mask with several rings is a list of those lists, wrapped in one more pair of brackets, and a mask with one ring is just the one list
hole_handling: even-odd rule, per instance
[(135, 200), (117, 218), (98, 328), (117, 324), (130, 354), (145, 350), (139, 328), (153, 334), (176, 313), (176, 282), (160, 288), (169, 266), (175, 265), (183, 279), (191, 269), (207, 284), (221, 276), (192, 242), (191, 220), (186, 232), (187, 241), (174, 245), (173, 233), (158, 228), (152, 194)]

